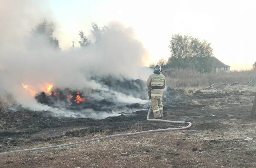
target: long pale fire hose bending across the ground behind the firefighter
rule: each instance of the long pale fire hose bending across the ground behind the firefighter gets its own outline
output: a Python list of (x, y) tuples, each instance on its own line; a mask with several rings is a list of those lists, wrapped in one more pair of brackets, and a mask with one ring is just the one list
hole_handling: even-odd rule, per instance
[(158, 129), (158, 130), (140, 131), (140, 132), (136, 132), (136, 133), (114, 134), (114, 135), (110, 135), (110, 136), (99, 137), (99, 138), (95, 138), (95, 139), (89, 139), (89, 140), (73, 142), (73, 143), (59, 144), (59, 145), (55, 145), (55, 146), (36, 147), (36, 148), (30, 148), (30, 149), (22, 149), (22, 150), (14, 150), (14, 151), (9, 151), (9, 152), (2, 152), (2, 153), (0, 153), (0, 155), (11, 154), (11, 153), (15, 153), (15, 152), (26, 152), (26, 151), (32, 151), (32, 150), (53, 149), (53, 148), (58, 148), (58, 147), (62, 147), (62, 146), (71, 146), (71, 145), (75, 145), (75, 144), (87, 143), (87, 142), (91, 142), (91, 141), (97, 141), (97, 140), (108, 139), (108, 138), (113, 138), (113, 137), (124, 137), (124, 136), (138, 135), (138, 134), (143, 134), (143, 133), (155, 133), (155, 132), (163, 132), (163, 131), (170, 131), (170, 130), (184, 130), (184, 129), (187, 129), (187, 128), (191, 127), (191, 122), (187, 122), (187, 121), (171, 121), (171, 120), (164, 120), (164, 119), (149, 119), (150, 111), (151, 111), (151, 106), (150, 106), (149, 111), (148, 111), (148, 116), (147, 116), (148, 121), (160, 121), (160, 122), (169, 122), (169, 123), (175, 123), (175, 124), (187, 123), (188, 125), (186, 127), (179, 127), (179, 128), (165, 128), (165, 129)]

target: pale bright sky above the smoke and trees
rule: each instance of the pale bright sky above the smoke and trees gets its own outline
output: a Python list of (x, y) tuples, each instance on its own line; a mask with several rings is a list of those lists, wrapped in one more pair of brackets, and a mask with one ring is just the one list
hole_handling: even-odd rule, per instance
[(248, 0), (51, 0), (62, 49), (78, 46), (78, 32), (89, 34), (111, 21), (132, 27), (150, 55), (149, 62), (170, 56), (173, 34), (211, 43), (214, 56), (231, 69), (250, 69), (256, 61), (256, 1)]

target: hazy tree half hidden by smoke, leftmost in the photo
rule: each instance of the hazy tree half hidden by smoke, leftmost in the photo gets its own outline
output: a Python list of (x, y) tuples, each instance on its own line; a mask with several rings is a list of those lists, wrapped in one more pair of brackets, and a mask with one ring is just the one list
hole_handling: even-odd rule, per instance
[(46, 20), (36, 25), (31, 32), (32, 38), (30, 40), (32, 46), (50, 46), (54, 49), (60, 49), (59, 40), (53, 36), (54, 28), (53, 22), (48, 23)]

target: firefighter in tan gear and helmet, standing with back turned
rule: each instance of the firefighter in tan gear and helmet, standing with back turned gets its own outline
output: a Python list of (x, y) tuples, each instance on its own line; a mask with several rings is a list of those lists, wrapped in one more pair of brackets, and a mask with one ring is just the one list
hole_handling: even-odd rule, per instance
[(151, 99), (151, 106), (155, 119), (163, 118), (162, 96), (163, 89), (166, 86), (166, 78), (161, 74), (161, 71), (161, 66), (156, 65), (153, 71), (154, 74), (150, 75), (147, 80), (149, 99)]

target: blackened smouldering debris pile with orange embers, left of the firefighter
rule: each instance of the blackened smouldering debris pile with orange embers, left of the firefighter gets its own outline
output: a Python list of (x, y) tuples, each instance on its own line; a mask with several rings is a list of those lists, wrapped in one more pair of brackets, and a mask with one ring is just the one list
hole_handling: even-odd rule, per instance
[(91, 80), (101, 87), (94, 89), (85, 87), (80, 90), (53, 88), (51, 94), (40, 92), (36, 94), (35, 99), (44, 105), (73, 111), (92, 109), (120, 113), (148, 108), (145, 81), (111, 75), (94, 76)]

